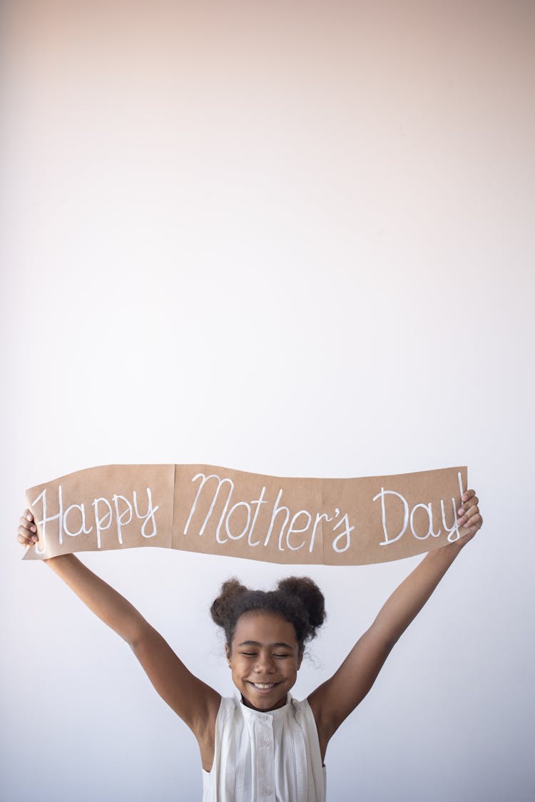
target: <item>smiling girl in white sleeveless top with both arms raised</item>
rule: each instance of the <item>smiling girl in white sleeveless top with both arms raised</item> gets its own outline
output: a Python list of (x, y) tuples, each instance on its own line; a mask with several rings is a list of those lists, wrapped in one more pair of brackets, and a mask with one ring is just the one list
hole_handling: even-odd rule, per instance
[[(460, 540), (429, 552), (379, 611), (336, 673), (301, 702), (293, 699), (304, 644), (325, 618), (323, 595), (307, 577), (251, 591), (225, 582), (212, 605), (225, 628), (226, 658), (241, 699), (221, 698), (191, 674), (129, 602), (74, 554), (45, 560), (132, 647), (160, 696), (201, 750), (203, 802), (324, 802), (327, 743), (370, 690), (392, 646), (431, 596), (460, 549), (483, 524), (473, 490), (462, 498)], [(26, 509), (18, 542), (37, 541)]]

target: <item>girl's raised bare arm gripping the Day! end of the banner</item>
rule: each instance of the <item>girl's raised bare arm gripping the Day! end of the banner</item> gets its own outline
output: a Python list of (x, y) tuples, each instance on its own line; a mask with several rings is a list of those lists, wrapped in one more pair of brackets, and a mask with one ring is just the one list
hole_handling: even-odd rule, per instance
[(330, 737), (375, 683), (392, 646), (428, 601), (460, 549), (480, 529), (483, 519), (477, 504), (473, 490), (464, 493), (458, 520), (468, 532), (459, 541), (435, 549), (424, 557), (391, 594), (338, 671), (309, 696), (323, 754)]

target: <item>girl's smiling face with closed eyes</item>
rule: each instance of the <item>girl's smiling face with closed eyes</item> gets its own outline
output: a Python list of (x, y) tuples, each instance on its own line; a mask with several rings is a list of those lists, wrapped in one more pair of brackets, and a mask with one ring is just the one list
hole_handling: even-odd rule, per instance
[(286, 704), (301, 666), (294, 625), (276, 613), (252, 610), (238, 618), (232, 650), (225, 644), (233, 683), (254, 710)]

